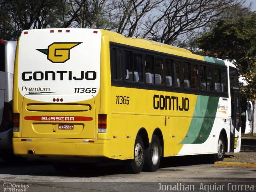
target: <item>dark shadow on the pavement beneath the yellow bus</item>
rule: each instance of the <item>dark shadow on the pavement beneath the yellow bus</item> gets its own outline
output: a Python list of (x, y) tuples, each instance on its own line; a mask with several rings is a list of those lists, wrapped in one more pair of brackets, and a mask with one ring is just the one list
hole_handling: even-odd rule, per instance
[[(209, 164), (206, 157), (202, 155), (196, 156), (180, 156), (162, 158), (159, 169), (172, 168), (179, 166), (191, 166), (197, 164)], [(108, 163), (99, 163), (92, 168), (70, 169), (68, 171), (57, 172), (51, 162), (39, 160), (27, 160), (25, 162), (6, 163), (0, 162), (0, 174), (9, 175), (32, 175), (32, 176), (63, 176), (63, 177), (98, 177), (114, 174), (128, 174), (122, 161), (114, 161)]]

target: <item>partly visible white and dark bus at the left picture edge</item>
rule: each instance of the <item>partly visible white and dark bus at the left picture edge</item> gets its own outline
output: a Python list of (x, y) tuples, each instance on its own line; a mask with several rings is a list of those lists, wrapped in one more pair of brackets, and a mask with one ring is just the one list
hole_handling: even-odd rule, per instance
[(0, 40), (0, 157), (11, 160), (12, 151), (12, 87), (16, 41)]

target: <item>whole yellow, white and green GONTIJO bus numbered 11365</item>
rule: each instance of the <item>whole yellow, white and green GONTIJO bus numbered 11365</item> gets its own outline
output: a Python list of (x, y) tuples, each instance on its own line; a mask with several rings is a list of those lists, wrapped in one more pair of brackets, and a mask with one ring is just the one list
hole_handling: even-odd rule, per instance
[(24, 30), (14, 67), (14, 153), (58, 162), (239, 152), (236, 67), (98, 29)]

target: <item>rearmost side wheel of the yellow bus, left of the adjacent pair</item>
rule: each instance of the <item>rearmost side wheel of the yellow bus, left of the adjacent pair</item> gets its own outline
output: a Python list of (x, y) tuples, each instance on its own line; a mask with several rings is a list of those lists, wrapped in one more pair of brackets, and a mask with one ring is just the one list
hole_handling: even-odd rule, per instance
[(134, 159), (128, 160), (125, 164), (126, 172), (138, 174), (144, 166), (144, 143), (140, 135), (136, 137), (134, 144)]

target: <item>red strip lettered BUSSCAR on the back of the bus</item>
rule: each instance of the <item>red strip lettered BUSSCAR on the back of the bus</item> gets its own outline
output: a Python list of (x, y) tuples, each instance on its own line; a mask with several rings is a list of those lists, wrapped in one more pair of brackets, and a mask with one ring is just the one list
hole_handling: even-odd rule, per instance
[(26, 116), (29, 121), (92, 121), (92, 117), (82, 116)]

